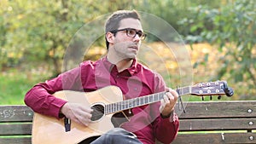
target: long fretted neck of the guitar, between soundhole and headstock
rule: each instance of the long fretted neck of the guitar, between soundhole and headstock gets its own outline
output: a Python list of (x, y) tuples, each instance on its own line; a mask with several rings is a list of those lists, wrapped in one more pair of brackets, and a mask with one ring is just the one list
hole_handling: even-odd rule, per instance
[[(191, 94), (191, 86), (178, 88), (175, 90), (177, 91), (178, 95)], [(128, 99), (125, 101), (111, 103), (105, 106), (105, 114), (121, 112), (134, 107), (141, 107), (154, 102), (158, 102), (161, 99), (163, 99), (165, 94), (166, 94), (166, 91), (163, 91), (163, 92), (155, 93), (152, 95), (145, 95), (145, 96), (140, 96), (133, 99)]]

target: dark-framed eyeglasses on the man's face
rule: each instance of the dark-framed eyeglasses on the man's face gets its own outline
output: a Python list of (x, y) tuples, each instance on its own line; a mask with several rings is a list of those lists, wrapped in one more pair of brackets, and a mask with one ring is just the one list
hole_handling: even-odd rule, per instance
[(124, 28), (124, 29), (120, 29), (120, 30), (113, 30), (111, 31), (112, 33), (116, 33), (116, 32), (120, 32), (120, 31), (125, 31), (126, 35), (128, 37), (136, 37), (136, 35), (138, 35), (138, 37), (140, 37), (141, 40), (144, 40), (147, 36), (146, 33), (143, 33), (141, 31), (137, 31), (136, 29), (133, 28)]

